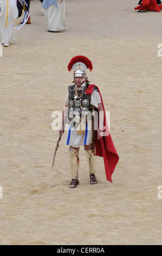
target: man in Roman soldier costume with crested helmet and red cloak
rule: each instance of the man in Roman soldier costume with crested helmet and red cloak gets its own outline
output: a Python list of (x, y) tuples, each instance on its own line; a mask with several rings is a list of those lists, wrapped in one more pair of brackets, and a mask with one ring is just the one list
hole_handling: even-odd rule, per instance
[(68, 64), (68, 70), (74, 69), (73, 84), (68, 87), (66, 105), (62, 115), (59, 133), (64, 132), (65, 121), (68, 130), (65, 144), (69, 145), (72, 182), (69, 187), (79, 184), (79, 149), (83, 145), (89, 166), (90, 184), (97, 184), (95, 176), (95, 155), (103, 157), (106, 178), (112, 182), (112, 174), (119, 156), (115, 150), (108, 130), (105, 108), (100, 90), (90, 84), (85, 69), (92, 71), (93, 66), (85, 56), (75, 56)]

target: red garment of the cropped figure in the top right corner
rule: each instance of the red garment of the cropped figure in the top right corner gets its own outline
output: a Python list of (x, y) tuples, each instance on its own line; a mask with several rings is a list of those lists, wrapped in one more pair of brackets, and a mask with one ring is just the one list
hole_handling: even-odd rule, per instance
[(135, 7), (135, 10), (160, 11), (162, 5), (158, 5), (156, 0), (143, 0), (142, 4)]

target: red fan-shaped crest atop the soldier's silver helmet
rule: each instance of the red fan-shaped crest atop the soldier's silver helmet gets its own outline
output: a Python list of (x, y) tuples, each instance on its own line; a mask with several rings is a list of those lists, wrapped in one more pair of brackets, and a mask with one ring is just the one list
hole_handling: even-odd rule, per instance
[(93, 69), (92, 62), (87, 57), (79, 55), (70, 60), (68, 64), (68, 71), (71, 71), (72, 69), (75, 69), (76, 66), (80, 65), (82, 65), (85, 69), (89, 69), (90, 71)]

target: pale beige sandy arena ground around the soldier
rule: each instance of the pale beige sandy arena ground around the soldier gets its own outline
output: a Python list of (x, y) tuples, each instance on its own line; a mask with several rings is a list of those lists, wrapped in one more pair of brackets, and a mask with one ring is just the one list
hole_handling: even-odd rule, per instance
[[(49, 33), (33, 0), (31, 25), (3, 47), (0, 245), (161, 245), (162, 12), (138, 13), (137, 3), (66, 0), (66, 30)], [(98, 157), (92, 186), (81, 148), (73, 190), (65, 135), (51, 168), (51, 115), (63, 110), (67, 65), (80, 54), (93, 63), (88, 78), (111, 113), (120, 160), (111, 184)]]

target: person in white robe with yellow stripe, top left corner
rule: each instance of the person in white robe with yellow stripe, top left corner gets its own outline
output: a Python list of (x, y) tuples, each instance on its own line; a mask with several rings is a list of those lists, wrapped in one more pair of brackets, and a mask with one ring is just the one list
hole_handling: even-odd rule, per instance
[[(16, 0), (0, 0), (0, 31), (4, 46), (9, 46), (10, 40), (15, 40), (15, 21), (18, 17)], [(6, 22), (8, 23), (6, 27)]]

